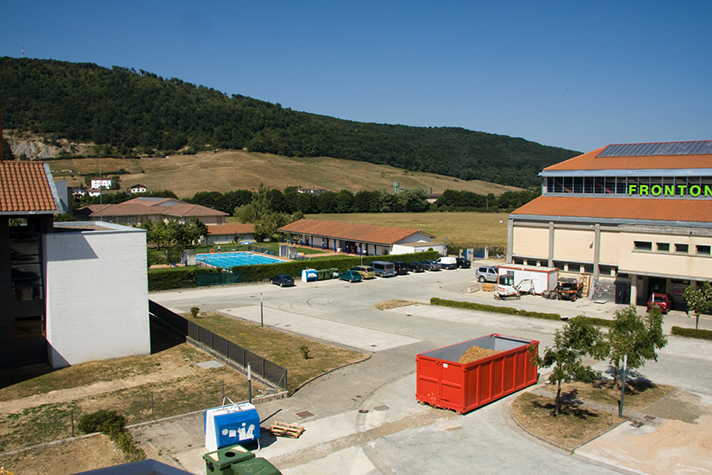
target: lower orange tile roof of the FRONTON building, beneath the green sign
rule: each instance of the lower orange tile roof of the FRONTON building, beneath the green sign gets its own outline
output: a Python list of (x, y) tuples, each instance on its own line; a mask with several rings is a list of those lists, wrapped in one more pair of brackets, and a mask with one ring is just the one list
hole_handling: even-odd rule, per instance
[(540, 196), (512, 215), (712, 223), (712, 200)]

